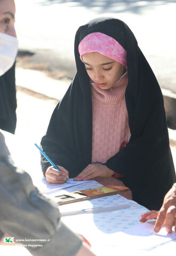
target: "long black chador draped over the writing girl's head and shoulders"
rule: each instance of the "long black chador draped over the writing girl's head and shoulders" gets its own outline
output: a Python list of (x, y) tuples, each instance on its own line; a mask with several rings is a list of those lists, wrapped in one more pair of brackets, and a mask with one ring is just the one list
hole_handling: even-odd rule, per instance
[[(137, 40), (123, 21), (95, 19), (77, 30), (77, 74), (52, 114), (42, 148), (55, 164), (69, 171), (69, 177), (75, 177), (91, 164), (91, 86), (85, 65), (79, 58), (78, 45), (94, 32), (113, 37), (127, 51), (129, 82), (125, 101), (131, 138), (105, 165), (123, 176), (121, 179), (132, 190), (134, 201), (158, 210), (175, 181), (163, 96)], [(42, 158), (43, 172), (49, 165)]]

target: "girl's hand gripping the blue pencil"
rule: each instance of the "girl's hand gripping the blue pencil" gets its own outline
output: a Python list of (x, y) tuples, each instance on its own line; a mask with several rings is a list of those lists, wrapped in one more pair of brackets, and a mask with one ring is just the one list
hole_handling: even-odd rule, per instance
[(60, 172), (56, 170), (53, 166), (49, 166), (46, 169), (45, 176), (46, 176), (46, 180), (49, 183), (62, 184), (66, 181), (66, 179), (69, 178), (68, 171), (62, 166), (59, 166), (59, 165), (57, 166)]

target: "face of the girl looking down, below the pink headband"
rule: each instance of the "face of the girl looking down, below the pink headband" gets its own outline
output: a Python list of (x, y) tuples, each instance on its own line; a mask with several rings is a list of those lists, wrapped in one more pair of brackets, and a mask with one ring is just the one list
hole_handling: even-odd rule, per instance
[(102, 90), (108, 90), (124, 74), (125, 67), (98, 52), (85, 53), (82, 56), (87, 74)]

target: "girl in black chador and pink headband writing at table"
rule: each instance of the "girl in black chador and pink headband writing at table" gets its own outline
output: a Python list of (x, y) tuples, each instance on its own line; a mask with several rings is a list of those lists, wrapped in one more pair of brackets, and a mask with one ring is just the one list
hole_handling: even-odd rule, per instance
[(41, 146), (47, 181), (121, 179), (157, 210), (175, 180), (163, 96), (127, 25), (95, 19), (77, 30), (77, 74), (55, 108)]

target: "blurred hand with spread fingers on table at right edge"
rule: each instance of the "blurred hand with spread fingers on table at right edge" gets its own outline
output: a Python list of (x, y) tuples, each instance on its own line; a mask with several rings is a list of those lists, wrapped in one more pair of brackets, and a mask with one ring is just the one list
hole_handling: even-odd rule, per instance
[(159, 232), (165, 223), (167, 233), (172, 232), (172, 227), (176, 231), (176, 183), (164, 197), (163, 205), (159, 211), (149, 211), (141, 215), (141, 222), (156, 219), (154, 230)]

